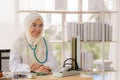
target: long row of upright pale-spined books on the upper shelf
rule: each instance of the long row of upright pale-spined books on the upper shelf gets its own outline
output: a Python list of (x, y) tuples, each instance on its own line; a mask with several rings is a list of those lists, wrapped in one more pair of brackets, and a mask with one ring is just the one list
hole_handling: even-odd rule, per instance
[(65, 23), (66, 41), (71, 41), (72, 37), (79, 36), (80, 41), (102, 41), (104, 33), (104, 41), (112, 40), (112, 26), (108, 23), (101, 22), (67, 22)]

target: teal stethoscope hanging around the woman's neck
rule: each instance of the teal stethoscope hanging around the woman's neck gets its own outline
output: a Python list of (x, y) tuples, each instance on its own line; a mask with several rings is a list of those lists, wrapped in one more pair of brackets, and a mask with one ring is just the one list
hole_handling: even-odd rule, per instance
[(32, 46), (29, 44), (29, 47), (33, 50), (35, 59), (36, 59), (37, 62), (40, 63), (40, 64), (44, 64), (45, 62), (47, 62), (47, 59), (48, 59), (48, 46), (47, 46), (47, 43), (46, 43), (46, 40), (45, 40), (44, 37), (43, 37), (43, 41), (44, 41), (45, 47), (46, 47), (46, 57), (45, 57), (45, 60), (44, 60), (44, 61), (40, 61), (40, 60), (37, 58), (37, 55), (36, 55), (37, 45), (35, 45), (35, 47), (32, 47)]

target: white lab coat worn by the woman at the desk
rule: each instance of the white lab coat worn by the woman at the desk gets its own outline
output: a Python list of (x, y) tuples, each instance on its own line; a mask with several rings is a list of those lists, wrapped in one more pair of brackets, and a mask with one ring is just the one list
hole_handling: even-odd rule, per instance
[[(54, 71), (57, 68), (57, 60), (53, 56), (53, 51), (50, 48), (50, 45), (47, 43), (48, 46), (48, 60), (43, 65), (49, 66), (52, 71)], [(39, 51), (36, 51), (38, 54), (38, 58), (41, 58), (39, 54)], [(28, 44), (26, 43), (25, 35), (23, 34), (18, 38), (10, 51), (10, 60), (9, 60), (9, 68), (12, 72), (30, 72), (30, 65), (34, 62), (37, 62), (35, 60), (35, 57), (33, 55), (33, 51), (30, 50)], [(42, 55), (44, 57), (45, 55)], [(44, 60), (44, 58), (41, 58), (40, 60)]]

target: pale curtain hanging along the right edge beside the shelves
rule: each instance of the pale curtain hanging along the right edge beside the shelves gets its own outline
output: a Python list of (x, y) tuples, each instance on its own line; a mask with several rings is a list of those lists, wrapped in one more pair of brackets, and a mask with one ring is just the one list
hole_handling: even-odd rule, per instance
[[(113, 40), (110, 48), (110, 59), (113, 61), (113, 65), (117, 71), (110, 73), (111, 80), (120, 80), (120, 0), (113, 0), (113, 10), (117, 13), (113, 13), (111, 24), (113, 27)], [(112, 74), (112, 75), (111, 75)]]

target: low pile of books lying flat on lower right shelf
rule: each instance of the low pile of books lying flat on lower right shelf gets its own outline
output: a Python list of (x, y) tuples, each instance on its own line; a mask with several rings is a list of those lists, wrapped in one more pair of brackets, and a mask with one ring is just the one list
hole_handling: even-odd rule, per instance
[(102, 60), (96, 60), (94, 64), (96, 64), (97, 71), (102, 71), (102, 69), (104, 69), (105, 71), (113, 70), (113, 67), (111, 66), (112, 61), (109, 61), (109, 60), (104, 60), (104, 63), (102, 62)]

